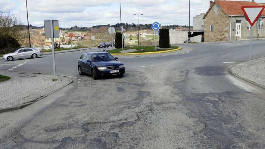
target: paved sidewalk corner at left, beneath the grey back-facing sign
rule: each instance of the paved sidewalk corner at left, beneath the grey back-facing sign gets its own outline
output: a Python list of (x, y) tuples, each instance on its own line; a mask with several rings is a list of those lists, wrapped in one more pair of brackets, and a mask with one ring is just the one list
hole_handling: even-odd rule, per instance
[(72, 82), (71, 79), (52, 75), (1, 71), (11, 79), (0, 83), (0, 113), (21, 109)]

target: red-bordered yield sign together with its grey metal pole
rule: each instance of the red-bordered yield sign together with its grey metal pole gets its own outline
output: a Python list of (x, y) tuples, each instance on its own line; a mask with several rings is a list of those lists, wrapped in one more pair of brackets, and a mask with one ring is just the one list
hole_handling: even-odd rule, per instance
[(248, 67), (250, 67), (251, 62), (251, 50), (252, 50), (252, 35), (253, 35), (253, 25), (257, 22), (258, 18), (261, 16), (262, 11), (265, 6), (242, 6), (242, 11), (244, 12), (245, 18), (251, 26), (250, 31), (250, 45), (249, 45), (249, 56), (248, 56)]

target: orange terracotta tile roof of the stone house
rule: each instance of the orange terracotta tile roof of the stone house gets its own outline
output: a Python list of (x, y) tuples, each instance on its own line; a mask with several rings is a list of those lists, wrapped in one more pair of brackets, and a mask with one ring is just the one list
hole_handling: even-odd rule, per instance
[[(258, 4), (256, 2), (228, 1), (228, 0), (215, 0), (214, 4), (215, 3), (217, 3), (226, 12), (226, 14), (228, 14), (228, 15), (239, 15), (239, 16), (243, 16), (244, 15), (244, 13), (243, 13), (243, 11), (241, 9), (242, 6), (264, 5), (262, 3)], [(210, 10), (210, 8), (209, 8), (209, 10)], [(262, 12), (261, 15), (265, 16), (265, 10)]]

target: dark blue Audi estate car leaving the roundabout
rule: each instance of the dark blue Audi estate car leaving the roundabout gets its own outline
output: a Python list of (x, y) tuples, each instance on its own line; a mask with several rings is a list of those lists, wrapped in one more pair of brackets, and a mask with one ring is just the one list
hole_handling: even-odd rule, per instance
[(92, 75), (94, 80), (101, 76), (122, 77), (125, 66), (117, 59), (108, 52), (86, 52), (78, 60), (78, 72)]

